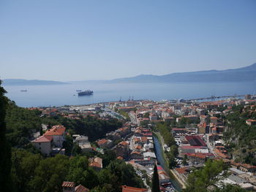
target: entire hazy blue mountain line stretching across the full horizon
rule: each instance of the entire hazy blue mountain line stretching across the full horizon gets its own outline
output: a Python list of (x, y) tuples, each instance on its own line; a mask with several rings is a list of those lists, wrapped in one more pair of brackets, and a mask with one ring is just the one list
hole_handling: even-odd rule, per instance
[(50, 80), (6, 79), (3, 85), (61, 85), (76, 82), (256, 82), (256, 63), (238, 69), (180, 72), (165, 75), (140, 74), (114, 80), (59, 82)]

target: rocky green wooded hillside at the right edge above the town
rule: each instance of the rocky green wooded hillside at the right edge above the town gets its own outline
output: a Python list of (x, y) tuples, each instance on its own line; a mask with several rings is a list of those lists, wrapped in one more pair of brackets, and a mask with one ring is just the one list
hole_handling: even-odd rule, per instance
[(227, 115), (227, 131), (224, 139), (229, 145), (229, 153), (237, 162), (256, 165), (256, 126), (249, 126), (246, 120), (256, 120), (256, 107), (233, 107), (233, 113)]

